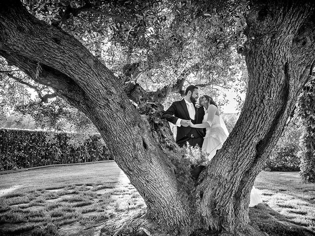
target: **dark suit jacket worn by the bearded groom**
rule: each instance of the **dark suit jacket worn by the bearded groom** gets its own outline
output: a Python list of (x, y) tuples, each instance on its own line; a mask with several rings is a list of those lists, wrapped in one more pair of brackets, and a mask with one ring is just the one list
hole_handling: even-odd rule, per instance
[[(203, 116), (205, 115), (205, 112), (203, 110), (203, 107), (200, 107), (197, 109), (195, 106), (195, 123), (200, 124), (202, 122)], [(173, 102), (172, 105), (162, 113), (161, 118), (167, 119), (167, 121), (176, 124), (176, 121), (178, 118), (181, 119), (190, 119), (187, 105), (185, 102), (185, 99), (181, 101), (176, 101)], [(176, 143), (178, 141), (181, 141), (187, 134), (190, 133), (191, 129), (196, 129), (196, 128), (191, 128), (190, 126), (184, 127), (184, 126), (177, 126), (177, 134), (176, 134)], [(201, 137), (204, 137), (204, 129), (196, 129), (196, 131), (200, 134)]]

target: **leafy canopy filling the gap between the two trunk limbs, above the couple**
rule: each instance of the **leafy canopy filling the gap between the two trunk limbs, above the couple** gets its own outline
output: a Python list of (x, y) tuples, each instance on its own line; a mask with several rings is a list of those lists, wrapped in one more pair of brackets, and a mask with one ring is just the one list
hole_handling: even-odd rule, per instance
[[(209, 82), (208, 78), (212, 78), (215, 84), (220, 85), (229, 79), (235, 81), (235, 75), (245, 67), (244, 59), (236, 53), (236, 48), (245, 40), (240, 34), (244, 24), (240, 22), (245, 21), (246, 3), (228, 8), (221, 1), (216, 4), (172, 0), (25, 2), (36, 13), (46, 16), (48, 21), (61, 21), (66, 16), (63, 29), (82, 40), (99, 58), (103, 50), (101, 42), (110, 42), (114, 47), (121, 48), (122, 51), (118, 52), (125, 54), (113, 57), (127, 57), (129, 62), (141, 61), (143, 73), (138, 81), (142, 81), (143, 86), (155, 81), (154, 88), (158, 88), (175, 82), (181, 71), (196, 63), (202, 65), (195, 71), (196, 75), (200, 75), (197, 79)], [(90, 5), (93, 11), (88, 8), (78, 17), (71, 15), (75, 9), (85, 5)], [(49, 12), (54, 13), (51, 15)], [(107, 17), (100, 12), (125, 20)], [(110, 68), (123, 67), (104, 62)], [(243, 63), (241, 68), (231, 67), (240, 62)]]

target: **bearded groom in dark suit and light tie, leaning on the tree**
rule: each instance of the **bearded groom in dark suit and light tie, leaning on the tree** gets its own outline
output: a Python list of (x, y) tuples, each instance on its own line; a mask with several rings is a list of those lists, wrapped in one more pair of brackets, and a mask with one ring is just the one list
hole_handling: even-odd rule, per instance
[(189, 120), (193, 124), (200, 124), (205, 114), (203, 107), (197, 109), (194, 103), (199, 97), (198, 87), (190, 85), (185, 90), (185, 98), (181, 101), (173, 102), (172, 105), (162, 113), (161, 118), (177, 125), (176, 143), (183, 147), (188, 142), (190, 146), (198, 145), (200, 148), (205, 136), (203, 129), (192, 128)]

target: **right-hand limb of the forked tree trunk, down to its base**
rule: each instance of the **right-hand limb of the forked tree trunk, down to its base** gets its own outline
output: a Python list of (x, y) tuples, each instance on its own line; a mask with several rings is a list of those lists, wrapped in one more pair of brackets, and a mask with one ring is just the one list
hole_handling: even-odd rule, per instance
[[(200, 177), (196, 191), (201, 196), (204, 221), (212, 229), (231, 231), (249, 222), (249, 196), (254, 179), (309, 78), (315, 45), (306, 38), (311, 36), (314, 24), (300, 31), (309, 17), (309, 7), (281, 1), (251, 6), (246, 29), (249, 78), (244, 107), (204, 179)], [(305, 57), (302, 44), (312, 56)]]

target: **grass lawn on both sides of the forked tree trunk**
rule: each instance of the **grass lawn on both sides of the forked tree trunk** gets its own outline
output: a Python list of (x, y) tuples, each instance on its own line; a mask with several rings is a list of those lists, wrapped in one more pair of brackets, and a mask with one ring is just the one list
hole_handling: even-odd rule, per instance
[[(290, 221), (315, 231), (315, 184), (297, 172), (261, 172), (255, 181), (263, 201)], [(49, 167), (0, 175), (0, 235), (63, 235), (64, 226), (85, 229), (140, 214), (145, 203), (114, 162)]]

